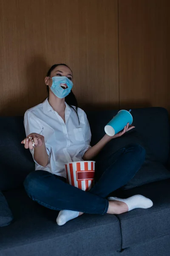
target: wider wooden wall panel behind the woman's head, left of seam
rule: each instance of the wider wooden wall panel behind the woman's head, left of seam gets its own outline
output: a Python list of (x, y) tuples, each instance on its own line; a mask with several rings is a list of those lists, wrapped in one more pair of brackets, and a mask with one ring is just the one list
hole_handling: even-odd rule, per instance
[(117, 0), (0, 0), (0, 114), (42, 102), (46, 72), (60, 62), (80, 106), (118, 107), (117, 11)]

